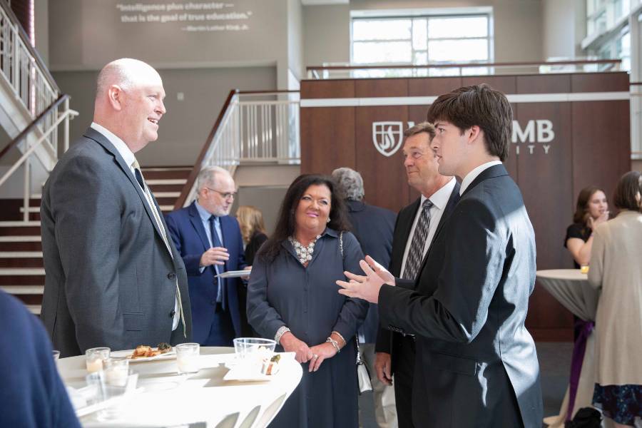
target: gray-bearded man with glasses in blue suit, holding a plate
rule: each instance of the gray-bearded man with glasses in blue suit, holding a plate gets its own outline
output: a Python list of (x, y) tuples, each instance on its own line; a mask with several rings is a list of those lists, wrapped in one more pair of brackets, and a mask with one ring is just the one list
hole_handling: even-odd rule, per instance
[(230, 216), (236, 185), (227, 170), (207, 166), (196, 186), (197, 200), (169, 213), (167, 225), (188, 274), (194, 341), (232, 346), (241, 335), (238, 287), (243, 284), (239, 278), (217, 275), (245, 268), (243, 238), (238, 221)]

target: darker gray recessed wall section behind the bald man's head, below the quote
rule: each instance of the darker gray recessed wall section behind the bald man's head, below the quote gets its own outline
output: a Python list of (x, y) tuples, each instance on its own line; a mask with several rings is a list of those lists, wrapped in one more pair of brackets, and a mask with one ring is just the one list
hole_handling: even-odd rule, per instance
[[(80, 115), (71, 122), (75, 140), (93, 117), (97, 71), (57, 71), (61, 90), (71, 95)], [(160, 69), (167, 113), (161, 119), (158, 141), (136, 157), (143, 166), (193, 165), (230, 89), (274, 89), (275, 67)], [(183, 101), (177, 93), (182, 92)]]

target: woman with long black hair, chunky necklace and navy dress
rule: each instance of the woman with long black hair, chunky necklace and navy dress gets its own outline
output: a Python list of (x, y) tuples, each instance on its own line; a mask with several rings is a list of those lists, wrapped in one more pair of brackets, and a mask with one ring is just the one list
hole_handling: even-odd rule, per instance
[(301, 382), (271, 427), (357, 428), (355, 334), (365, 300), (340, 295), (336, 280), (357, 271), (361, 246), (335, 183), (301, 175), (285, 194), (275, 233), (254, 260), (248, 319), (277, 350), (295, 352)]

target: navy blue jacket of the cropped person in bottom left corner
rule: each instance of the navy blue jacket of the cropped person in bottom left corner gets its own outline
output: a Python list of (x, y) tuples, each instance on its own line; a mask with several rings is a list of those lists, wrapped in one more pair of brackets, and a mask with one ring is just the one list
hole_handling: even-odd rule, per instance
[(0, 290), (0, 427), (80, 428), (41, 322)]

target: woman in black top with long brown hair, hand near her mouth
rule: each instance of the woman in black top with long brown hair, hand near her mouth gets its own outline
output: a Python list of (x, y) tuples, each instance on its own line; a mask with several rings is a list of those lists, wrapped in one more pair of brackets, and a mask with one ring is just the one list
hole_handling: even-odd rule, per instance
[(573, 224), (566, 229), (564, 247), (569, 250), (576, 269), (588, 265), (593, 245), (593, 230), (608, 220), (608, 202), (604, 190), (589, 186), (580, 191)]

